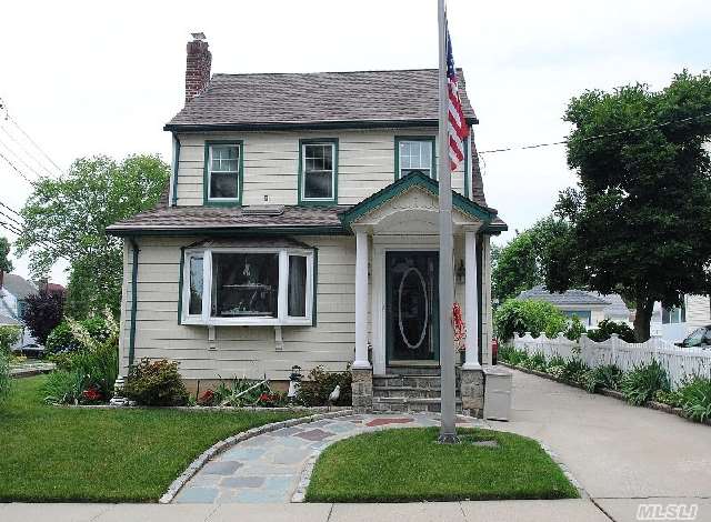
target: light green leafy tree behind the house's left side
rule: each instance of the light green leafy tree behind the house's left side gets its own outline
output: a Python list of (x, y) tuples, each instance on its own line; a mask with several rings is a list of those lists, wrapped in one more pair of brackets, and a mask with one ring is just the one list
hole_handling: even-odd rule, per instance
[(22, 209), (19, 254), (31, 253), (30, 269), (46, 274), (69, 261), (67, 312), (83, 318), (121, 300), (121, 240), (108, 225), (156, 205), (169, 167), (158, 155), (130, 155), (117, 162), (103, 155), (76, 160), (59, 179), (37, 182)]

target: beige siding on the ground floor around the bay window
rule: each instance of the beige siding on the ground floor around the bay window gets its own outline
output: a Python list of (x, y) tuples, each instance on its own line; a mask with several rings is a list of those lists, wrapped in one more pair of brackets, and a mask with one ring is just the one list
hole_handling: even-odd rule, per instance
[[(217, 327), (217, 348), (209, 349), (207, 327), (178, 324), (180, 248), (198, 238), (139, 240), (136, 361), (141, 358), (180, 362), (186, 379), (234, 375), (287, 379), (293, 364), (304, 371), (322, 364), (344, 370), (354, 347), (354, 239), (303, 237), (319, 249), (318, 325), (282, 327), (283, 350), (277, 350), (273, 327)], [(132, 255), (124, 248), (121, 368), (128, 365)]]

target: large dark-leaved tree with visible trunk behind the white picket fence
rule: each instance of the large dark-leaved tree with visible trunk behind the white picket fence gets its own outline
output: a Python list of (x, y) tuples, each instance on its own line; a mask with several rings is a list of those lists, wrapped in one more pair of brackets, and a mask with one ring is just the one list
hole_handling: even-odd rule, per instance
[(634, 333), (649, 339), (654, 301), (678, 304), (709, 292), (711, 76), (687, 71), (665, 89), (645, 84), (573, 98), (568, 164), (578, 187), (561, 192), (547, 285), (577, 282), (620, 292), (637, 305)]

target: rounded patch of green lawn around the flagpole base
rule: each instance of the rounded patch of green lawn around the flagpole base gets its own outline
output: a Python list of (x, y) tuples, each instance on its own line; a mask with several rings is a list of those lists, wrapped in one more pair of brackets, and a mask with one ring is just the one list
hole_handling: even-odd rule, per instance
[[(512, 433), (460, 430), (438, 444), (438, 428), (365, 433), (327, 448), (309, 502), (573, 499), (578, 491), (538, 442)], [(499, 448), (471, 442), (494, 440)]]

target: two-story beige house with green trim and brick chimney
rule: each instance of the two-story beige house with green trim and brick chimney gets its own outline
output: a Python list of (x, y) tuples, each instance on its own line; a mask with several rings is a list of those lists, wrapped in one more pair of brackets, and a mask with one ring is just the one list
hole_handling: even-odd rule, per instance
[[(437, 70), (211, 76), (201, 38), (187, 61), (184, 108), (164, 127), (169, 193), (109, 228), (124, 238), (122, 373), (140, 358), (179, 361), (189, 382), (351, 365), (367, 405), (371, 384), (435, 374), (453, 349), (438, 343)], [(463, 368), (481, 373), (489, 240), (505, 224), (467, 149), (452, 173), (455, 300)]]

